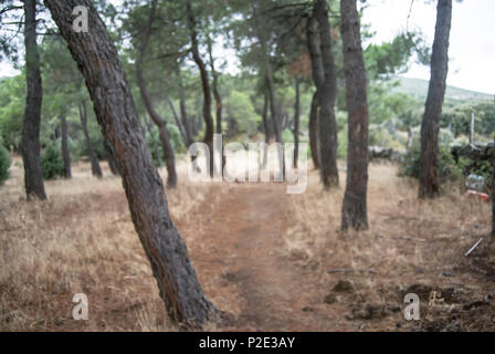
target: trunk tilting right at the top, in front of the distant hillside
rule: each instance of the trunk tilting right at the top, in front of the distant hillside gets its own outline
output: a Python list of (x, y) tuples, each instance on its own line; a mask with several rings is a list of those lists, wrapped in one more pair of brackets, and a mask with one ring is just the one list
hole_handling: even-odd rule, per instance
[(436, 28), (431, 56), (431, 80), (421, 123), (420, 198), (440, 194), (439, 131), (449, 72), (449, 38), (452, 20), (452, 0), (439, 0)]

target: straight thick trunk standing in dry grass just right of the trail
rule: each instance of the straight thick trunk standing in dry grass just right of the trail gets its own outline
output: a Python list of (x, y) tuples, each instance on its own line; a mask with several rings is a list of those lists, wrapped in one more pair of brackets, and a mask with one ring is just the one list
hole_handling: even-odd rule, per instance
[(368, 101), (361, 31), (356, 0), (340, 0), (344, 71), (349, 133), (343, 230), (368, 229)]

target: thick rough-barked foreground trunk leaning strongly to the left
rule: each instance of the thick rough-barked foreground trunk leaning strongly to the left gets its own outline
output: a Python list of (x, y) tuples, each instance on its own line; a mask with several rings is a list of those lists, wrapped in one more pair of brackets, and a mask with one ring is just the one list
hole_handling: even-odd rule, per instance
[[(152, 164), (117, 50), (89, 0), (44, 0), (77, 62), (96, 117), (117, 162), (130, 215), (151, 264), (169, 317), (201, 326), (218, 317), (206, 298), (187, 247), (168, 212), (162, 180)], [(72, 30), (72, 10), (88, 9), (88, 33)]]

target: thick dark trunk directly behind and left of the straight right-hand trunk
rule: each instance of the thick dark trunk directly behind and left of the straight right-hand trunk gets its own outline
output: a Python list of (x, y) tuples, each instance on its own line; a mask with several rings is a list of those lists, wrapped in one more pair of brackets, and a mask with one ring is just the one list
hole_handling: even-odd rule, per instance
[(325, 188), (338, 187), (337, 123), (334, 111), (337, 75), (325, 0), (314, 2), (313, 14), (307, 27), (307, 42), (319, 106), (318, 146), (322, 183)]

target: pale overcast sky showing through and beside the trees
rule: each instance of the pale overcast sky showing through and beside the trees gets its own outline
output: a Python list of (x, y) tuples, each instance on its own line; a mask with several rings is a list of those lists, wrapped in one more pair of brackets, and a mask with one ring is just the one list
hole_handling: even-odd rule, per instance
[[(367, 0), (364, 22), (376, 31), (373, 42), (391, 40), (406, 29), (412, 0)], [(114, 2), (118, 2), (115, 1)], [(414, 0), (409, 28), (419, 28), (433, 42), (436, 1)], [(495, 0), (454, 0), (450, 85), (495, 94)], [(13, 75), (8, 63), (0, 63), (0, 76)], [(411, 64), (408, 77), (430, 80), (430, 67)]]

